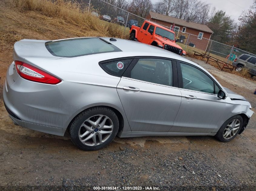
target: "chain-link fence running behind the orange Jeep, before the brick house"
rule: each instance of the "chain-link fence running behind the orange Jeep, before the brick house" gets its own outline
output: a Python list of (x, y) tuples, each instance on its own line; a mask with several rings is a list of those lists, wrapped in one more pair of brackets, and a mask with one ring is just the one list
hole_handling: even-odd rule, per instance
[[(122, 25), (124, 27), (124, 34), (129, 33), (129, 28), (132, 25), (141, 26), (144, 21), (147, 20), (121, 8), (118, 8), (118, 5), (111, 5), (111, 0), (108, 0), (108, 2), (103, 0), (78, 0), (78, 3), (81, 4), (81, 8), (84, 8), (85, 11), (91, 12), (93, 15), (95, 15), (95, 17), (98, 17), (99, 19), (106, 22)], [(120, 1), (117, 1), (117, 4), (118, 2)], [(171, 29), (170, 27), (163, 24), (160, 25)], [(193, 51), (196, 51), (198, 53), (208, 54), (225, 62), (228, 60), (233, 61), (241, 54), (254, 55), (234, 46), (219, 43), (199, 35), (194, 35), (179, 30), (174, 31), (176, 43), (180, 45), (181, 48), (187, 52), (187, 54), (190, 55), (193, 55)]]

